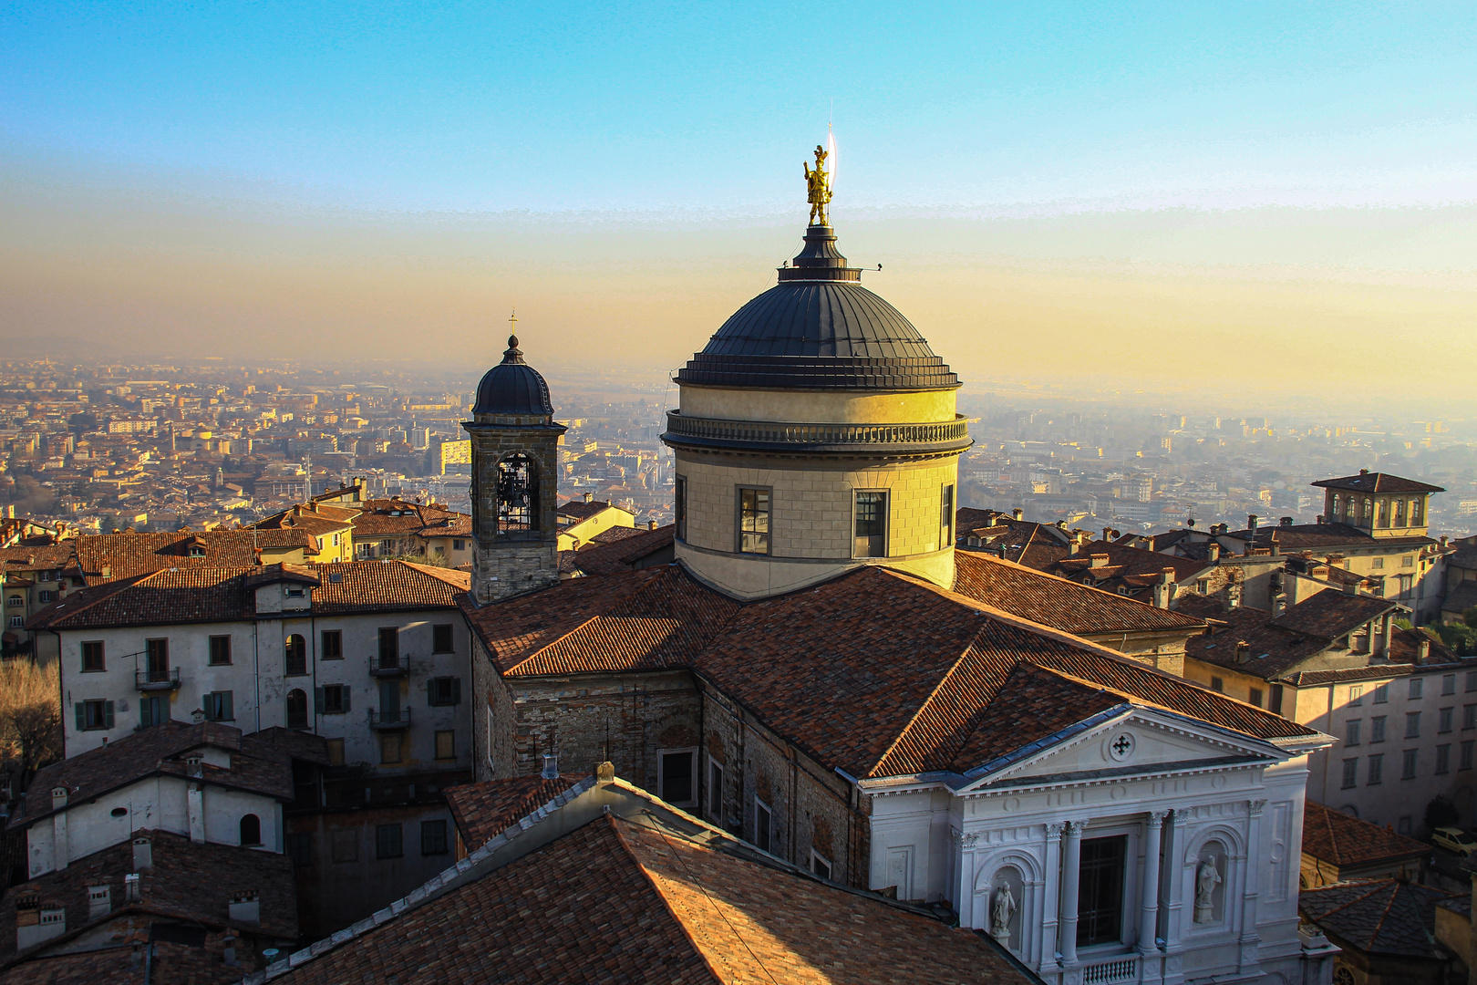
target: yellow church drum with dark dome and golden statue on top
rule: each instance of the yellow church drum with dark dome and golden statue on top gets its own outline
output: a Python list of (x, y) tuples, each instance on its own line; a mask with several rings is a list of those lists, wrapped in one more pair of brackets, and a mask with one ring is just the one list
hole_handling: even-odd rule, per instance
[(951, 588), (959, 377), (837, 250), (820, 148), (806, 179), (805, 247), (676, 375), (675, 555), (744, 600), (863, 564)]

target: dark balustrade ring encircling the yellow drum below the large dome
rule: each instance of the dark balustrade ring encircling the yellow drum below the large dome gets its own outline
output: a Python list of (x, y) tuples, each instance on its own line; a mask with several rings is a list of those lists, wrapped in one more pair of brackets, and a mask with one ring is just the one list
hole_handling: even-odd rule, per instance
[(969, 445), (963, 415), (938, 424), (802, 424), (787, 421), (725, 421), (666, 412), (666, 434), (678, 443), (765, 445), (795, 450), (938, 450)]

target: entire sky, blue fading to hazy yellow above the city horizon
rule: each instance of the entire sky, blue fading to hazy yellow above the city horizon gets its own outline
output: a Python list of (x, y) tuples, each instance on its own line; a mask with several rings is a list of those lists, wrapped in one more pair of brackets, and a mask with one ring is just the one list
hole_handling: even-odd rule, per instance
[(1474, 41), (1471, 3), (12, 1), (0, 349), (482, 365), (517, 307), (535, 365), (662, 377), (795, 253), (830, 124), (842, 250), (966, 380), (1456, 399)]

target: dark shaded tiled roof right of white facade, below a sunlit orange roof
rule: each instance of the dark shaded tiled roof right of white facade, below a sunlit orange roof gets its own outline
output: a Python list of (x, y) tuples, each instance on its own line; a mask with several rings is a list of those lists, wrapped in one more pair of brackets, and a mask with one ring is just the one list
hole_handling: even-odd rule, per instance
[(1297, 908), (1340, 947), (1445, 960), (1436, 944), (1436, 904), (1458, 895), (1399, 879), (1377, 879), (1304, 889)]

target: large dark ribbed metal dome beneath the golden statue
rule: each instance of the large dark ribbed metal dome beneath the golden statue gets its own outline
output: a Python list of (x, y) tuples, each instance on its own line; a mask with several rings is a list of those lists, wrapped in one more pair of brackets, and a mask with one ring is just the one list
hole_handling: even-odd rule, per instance
[(944, 390), (959, 377), (913, 323), (861, 286), (829, 226), (811, 226), (780, 284), (753, 298), (678, 372), (679, 384)]

